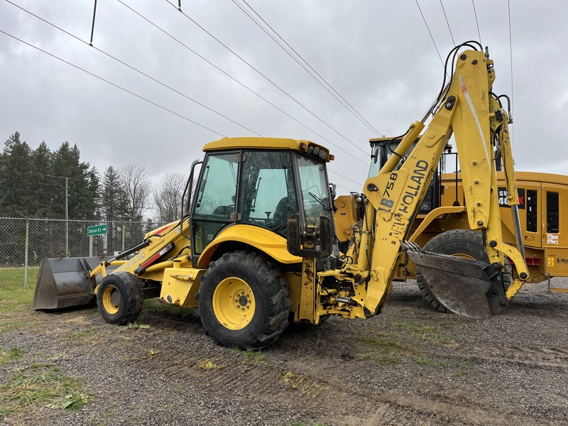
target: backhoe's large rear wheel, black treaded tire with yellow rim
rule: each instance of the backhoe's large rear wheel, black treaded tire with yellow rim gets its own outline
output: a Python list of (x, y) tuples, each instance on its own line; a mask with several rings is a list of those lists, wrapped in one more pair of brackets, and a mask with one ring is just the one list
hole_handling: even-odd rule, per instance
[(288, 326), (288, 283), (273, 263), (251, 251), (212, 262), (196, 297), (205, 334), (223, 346), (260, 349)]

